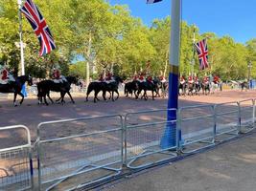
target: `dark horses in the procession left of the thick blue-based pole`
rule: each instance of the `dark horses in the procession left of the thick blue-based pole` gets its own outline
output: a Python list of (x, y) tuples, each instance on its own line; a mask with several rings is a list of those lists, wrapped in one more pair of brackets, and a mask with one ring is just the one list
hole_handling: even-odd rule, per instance
[[(47, 101), (47, 97), (50, 99), (52, 103), (54, 103), (54, 100), (51, 98), (50, 93), (58, 92), (60, 94), (58, 100), (60, 103), (64, 103), (64, 96), (68, 95), (73, 103), (75, 103), (73, 97), (70, 94), (71, 90), (71, 84), (79, 85), (79, 78), (75, 76), (67, 76), (66, 81), (63, 81), (62, 83), (55, 83), (51, 79), (46, 79), (38, 82), (37, 85), (37, 98), (38, 98), (38, 104), (45, 103), (46, 105), (49, 105)], [(14, 82), (8, 83), (8, 84), (0, 84), (0, 93), (12, 93), (14, 94), (13, 98), (13, 104), (14, 106), (17, 106), (16, 103), (16, 96), (21, 96), (21, 100), (19, 104), (21, 105), (24, 100), (24, 95), (22, 94), (22, 87), (25, 84), (25, 82), (28, 82), (28, 85), (33, 85), (33, 78), (30, 75), (22, 75), (16, 77)], [(91, 92), (94, 91), (94, 102), (100, 100), (98, 98), (98, 94), (102, 92), (103, 98), (106, 100), (106, 93), (109, 94), (109, 99), (112, 99), (113, 101), (118, 99), (119, 97), (119, 85), (120, 83), (123, 83), (123, 79), (119, 76), (114, 76), (113, 80), (109, 81), (92, 81), (89, 83), (87, 87), (87, 92), (85, 96), (85, 100), (88, 101), (88, 96), (91, 94)], [(134, 94), (135, 98), (138, 98), (141, 94), (141, 98), (144, 98), (145, 100), (148, 99), (147, 91), (151, 91), (152, 99), (154, 99), (155, 96), (160, 96), (159, 90), (161, 89), (162, 95), (166, 96), (167, 94), (167, 82), (163, 83), (160, 82), (159, 79), (154, 79), (152, 81), (145, 80), (145, 81), (129, 81), (125, 84), (125, 94), (128, 96), (131, 94), (131, 96)], [(115, 96), (116, 95), (116, 96)]]

